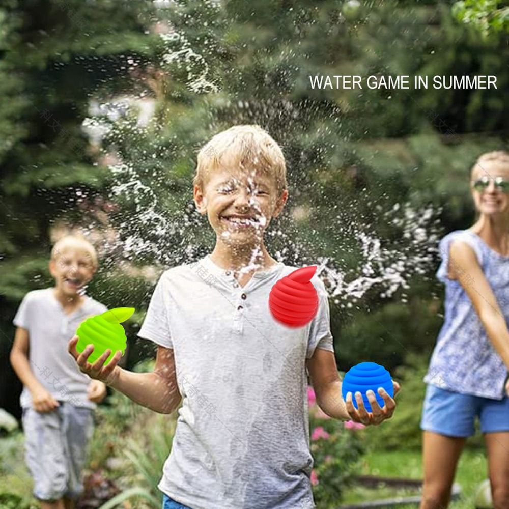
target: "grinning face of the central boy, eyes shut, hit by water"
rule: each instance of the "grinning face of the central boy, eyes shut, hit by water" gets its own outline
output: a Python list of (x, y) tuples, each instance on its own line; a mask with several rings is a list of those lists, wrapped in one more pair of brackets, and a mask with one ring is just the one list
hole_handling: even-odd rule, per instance
[(272, 217), (284, 207), (288, 191), (278, 195), (274, 177), (256, 171), (211, 172), (205, 189), (194, 187), (194, 202), (218, 238), (252, 244), (263, 238)]

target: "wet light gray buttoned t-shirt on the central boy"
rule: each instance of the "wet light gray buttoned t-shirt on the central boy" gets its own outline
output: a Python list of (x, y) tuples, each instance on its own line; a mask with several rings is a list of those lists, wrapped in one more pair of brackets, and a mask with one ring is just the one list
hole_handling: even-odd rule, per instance
[(158, 488), (192, 509), (312, 509), (305, 359), (333, 351), (322, 280), (316, 317), (274, 320), (278, 263), (242, 288), (209, 255), (166, 270), (139, 336), (175, 355), (182, 406)]

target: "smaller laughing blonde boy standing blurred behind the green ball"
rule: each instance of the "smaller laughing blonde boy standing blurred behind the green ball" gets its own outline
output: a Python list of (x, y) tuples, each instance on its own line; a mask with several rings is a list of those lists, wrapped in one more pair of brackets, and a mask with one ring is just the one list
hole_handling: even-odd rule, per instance
[(17, 327), (11, 364), (23, 382), (20, 397), (25, 460), (42, 509), (69, 509), (82, 492), (80, 482), (93, 411), (106, 386), (80, 372), (67, 342), (79, 324), (106, 306), (83, 295), (97, 269), (90, 242), (67, 236), (51, 251), (52, 288), (23, 298), (13, 323)]

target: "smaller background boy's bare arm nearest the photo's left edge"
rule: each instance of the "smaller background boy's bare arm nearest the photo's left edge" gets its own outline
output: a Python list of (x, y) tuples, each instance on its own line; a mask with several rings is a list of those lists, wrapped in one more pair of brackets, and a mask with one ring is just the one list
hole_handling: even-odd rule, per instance
[(37, 380), (30, 367), (29, 340), (29, 331), (23, 327), (17, 327), (9, 359), (16, 375), (18, 375), (23, 385), (32, 394), (34, 408), (38, 412), (49, 412), (53, 408), (58, 407), (59, 403), (45, 389), (41, 382)]

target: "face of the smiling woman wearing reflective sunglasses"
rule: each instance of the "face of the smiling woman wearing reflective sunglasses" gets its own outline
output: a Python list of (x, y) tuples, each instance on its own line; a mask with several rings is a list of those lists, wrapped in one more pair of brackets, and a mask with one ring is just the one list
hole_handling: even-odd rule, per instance
[(475, 208), (481, 214), (509, 213), (509, 166), (507, 164), (483, 162), (482, 167), (477, 165), (472, 172), (470, 188)]

